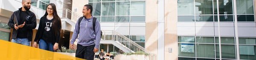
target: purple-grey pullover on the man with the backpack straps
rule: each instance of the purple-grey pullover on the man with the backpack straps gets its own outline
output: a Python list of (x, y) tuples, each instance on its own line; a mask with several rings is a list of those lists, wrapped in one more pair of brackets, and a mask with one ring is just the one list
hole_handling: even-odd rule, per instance
[(95, 22), (95, 33), (93, 30), (93, 16), (90, 19), (83, 18), (80, 23), (80, 28), (78, 27), (78, 21), (79, 20), (76, 22), (76, 27), (71, 38), (71, 44), (74, 44), (79, 34), (77, 44), (81, 44), (82, 46), (95, 44), (94, 48), (99, 49), (99, 42), (101, 39), (99, 20), (97, 19)]

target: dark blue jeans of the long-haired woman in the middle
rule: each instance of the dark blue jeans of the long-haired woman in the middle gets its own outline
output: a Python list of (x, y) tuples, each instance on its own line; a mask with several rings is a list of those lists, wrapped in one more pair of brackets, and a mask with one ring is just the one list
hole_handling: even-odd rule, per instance
[(47, 43), (43, 39), (39, 41), (39, 48), (54, 52), (52, 43)]

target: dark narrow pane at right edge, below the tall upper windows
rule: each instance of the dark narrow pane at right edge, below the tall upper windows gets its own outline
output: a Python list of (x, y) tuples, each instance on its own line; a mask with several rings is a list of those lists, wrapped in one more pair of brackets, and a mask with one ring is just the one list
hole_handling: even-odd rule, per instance
[(254, 22), (254, 15), (237, 15), (238, 22)]

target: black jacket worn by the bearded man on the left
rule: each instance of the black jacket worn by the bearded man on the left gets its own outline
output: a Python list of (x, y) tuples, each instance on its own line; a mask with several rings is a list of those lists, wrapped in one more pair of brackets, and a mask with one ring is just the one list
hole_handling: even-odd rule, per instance
[[(9, 27), (14, 28), (14, 25), (15, 25), (14, 21), (13, 21), (14, 15), (16, 15), (17, 20), (20, 20), (20, 11), (21, 11), (21, 8), (19, 8), (19, 10), (13, 12), (13, 14), (12, 14), (12, 16), (9, 19), (9, 22), (8, 22)], [(26, 22), (26, 24), (23, 26), (23, 28), (28, 30), (28, 33), (26, 34), (27, 38), (28, 38), (29, 41), (32, 41), (32, 33), (33, 33), (32, 29), (35, 29), (35, 27), (36, 27), (36, 16), (32, 11), (29, 11), (29, 10), (26, 11), (26, 13), (28, 13), (29, 16), (31, 16), (31, 17), (29, 17), (29, 21)], [(17, 38), (17, 33), (18, 33), (18, 31), (13, 29), (12, 39)]]

